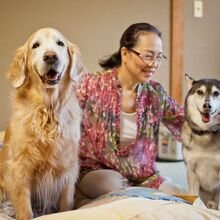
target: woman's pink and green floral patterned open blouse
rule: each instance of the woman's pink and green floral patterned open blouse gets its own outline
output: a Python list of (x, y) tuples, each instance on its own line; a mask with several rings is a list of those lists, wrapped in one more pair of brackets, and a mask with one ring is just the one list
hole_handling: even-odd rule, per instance
[(156, 168), (160, 122), (180, 140), (183, 109), (154, 81), (139, 84), (136, 100), (136, 139), (120, 147), (122, 87), (117, 69), (86, 74), (78, 89), (83, 121), (80, 142), (81, 172), (113, 169), (133, 185), (148, 181), (158, 188), (164, 178)]

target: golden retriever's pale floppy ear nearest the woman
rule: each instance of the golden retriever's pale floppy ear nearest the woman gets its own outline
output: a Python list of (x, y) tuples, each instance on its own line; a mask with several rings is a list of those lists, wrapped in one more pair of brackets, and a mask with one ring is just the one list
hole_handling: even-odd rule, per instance
[(82, 63), (79, 48), (71, 42), (68, 42), (68, 44), (70, 54), (70, 78), (77, 82), (81, 74), (86, 70)]

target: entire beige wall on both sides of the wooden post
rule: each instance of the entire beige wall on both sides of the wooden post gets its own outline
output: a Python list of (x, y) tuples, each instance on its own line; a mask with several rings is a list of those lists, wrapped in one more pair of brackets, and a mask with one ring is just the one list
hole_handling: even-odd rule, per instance
[[(184, 73), (195, 79), (220, 79), (220, 1), (203, 0), (203, 18), (193, 16), (193, 2), (184, 1)], [(100, 70), (100, 58), (118, 49), (124, 29), (142, 21), (161, 29), (169, 57), (170, 0), (0, 0), (0, 130), (10, 115), (11, 87), (5, 72), (15, 49), (33, 31), (47, 26), (59, 29), (78, 44), (84, 63), (95, 71)], [(168, 90), (169, 61), (154, 79)]]

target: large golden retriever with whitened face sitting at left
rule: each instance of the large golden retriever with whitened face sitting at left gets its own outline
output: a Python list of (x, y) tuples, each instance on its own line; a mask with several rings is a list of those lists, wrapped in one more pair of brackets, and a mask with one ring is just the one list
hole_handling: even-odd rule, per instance
[(17, 49), (7, 74), (13, 112), (0, 150), (0, 200), (16, 219), (73, 208), (78, 177), (81, 110), (75, 96), (83, 72), (79, 49), (59, 31), (43, 28)]

